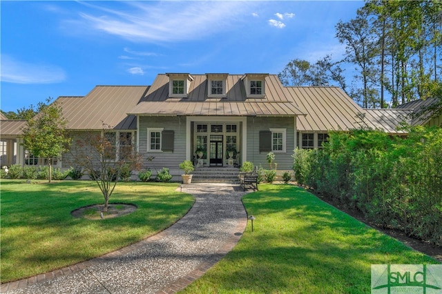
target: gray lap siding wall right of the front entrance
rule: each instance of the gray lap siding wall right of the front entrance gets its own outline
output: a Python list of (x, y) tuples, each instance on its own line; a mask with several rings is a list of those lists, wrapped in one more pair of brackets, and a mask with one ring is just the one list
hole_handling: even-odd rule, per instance
[(275, 162), (278, 170), (291, 170), (293, 167), (294, 151), (294, 117), (249, 117), (247, 118), (247, 161), (253, 162), (255, 166), (262, 165), (262, 168), (269, 169), (267, 152), (260, 153), (260, 130), (271, 128), (286, 129), (286, 152), (275, 153)]

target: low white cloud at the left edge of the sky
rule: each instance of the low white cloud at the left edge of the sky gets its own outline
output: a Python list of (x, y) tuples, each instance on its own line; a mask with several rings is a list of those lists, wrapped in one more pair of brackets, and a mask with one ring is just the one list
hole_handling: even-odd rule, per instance
[(44, 63), (18, 61), (1, 55), (0, 80), (15, 84), (52, 84), (66, 79), (64, 70)]

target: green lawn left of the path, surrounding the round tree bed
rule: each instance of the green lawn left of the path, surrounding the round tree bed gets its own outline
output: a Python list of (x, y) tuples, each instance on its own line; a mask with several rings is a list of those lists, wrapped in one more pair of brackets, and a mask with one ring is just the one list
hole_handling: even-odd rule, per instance
[(91, 181), (1, 179), (1, 282), (75, 264), (138, 242), (180, 219), (193, 204), (177, 184), (118, 183), (111, 203), (130, 203), (135, 212), (113, 219), (70, 215), (104, 203)]

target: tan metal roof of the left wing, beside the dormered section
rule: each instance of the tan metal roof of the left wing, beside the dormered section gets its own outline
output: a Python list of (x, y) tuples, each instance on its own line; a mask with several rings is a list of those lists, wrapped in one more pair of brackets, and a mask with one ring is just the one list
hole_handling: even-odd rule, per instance
[(135, 130), (137, 119), (127, 112), (143, 99), (148, 86), (96, 86), (85, 97), (59, 97), (70, 130), (97, 130), (107, 126)]

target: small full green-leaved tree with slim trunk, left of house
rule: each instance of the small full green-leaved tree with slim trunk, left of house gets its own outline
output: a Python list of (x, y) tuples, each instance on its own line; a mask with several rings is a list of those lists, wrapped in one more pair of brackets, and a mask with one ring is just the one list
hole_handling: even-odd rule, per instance
[[(46, 102), (50, 102), (50, 98)], [(23, 128), (23, 145), (32, 155), (48, 159), (49, 182), (52, 180), (52, 159), (68, 152), (72, 141), (66, 131), (68, 121), (64, 119), (61, 105), (38, 104), (39, 113)]]

